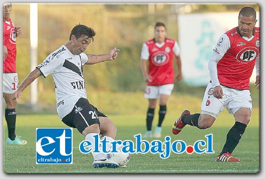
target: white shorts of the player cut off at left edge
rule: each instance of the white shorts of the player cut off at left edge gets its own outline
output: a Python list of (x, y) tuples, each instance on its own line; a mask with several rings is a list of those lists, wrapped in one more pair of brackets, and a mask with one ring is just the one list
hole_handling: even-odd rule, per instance
[(3, 73), (3, 92), (12, 94), (19, 87), (18, 73)]

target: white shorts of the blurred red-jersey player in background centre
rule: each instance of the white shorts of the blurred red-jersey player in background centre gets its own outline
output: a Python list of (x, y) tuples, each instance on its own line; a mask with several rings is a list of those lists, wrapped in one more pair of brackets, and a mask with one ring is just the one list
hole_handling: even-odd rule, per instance
[(148, 99), (156, 99), (160, 94), (171, 95), (174, 84), (164, 84), (160, 86), (146, 86), (144, 97)]

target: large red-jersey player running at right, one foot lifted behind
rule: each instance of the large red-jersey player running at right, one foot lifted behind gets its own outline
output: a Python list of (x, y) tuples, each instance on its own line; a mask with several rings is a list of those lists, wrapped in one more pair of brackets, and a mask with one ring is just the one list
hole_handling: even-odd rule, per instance
[(240, 161), (231, 153), (243, 136), (250, 121), (252, 98), (249, 78), (256, 67), (255, 86), (259, 89), (259, 27), (256, 11), (245, 6), (238, 14), (238, 26), (218, 39), (208, 62), (211, 81), (208, 83), (201, 103), (201, 114), (190, 114), (184, 110), (172, 126), (173, 134), (178, 134), (185, 125), (205, 129), (212, 126), (224, 106), (233, 114), (235, 123), (226, 135), (226, 141), (216, 161)]

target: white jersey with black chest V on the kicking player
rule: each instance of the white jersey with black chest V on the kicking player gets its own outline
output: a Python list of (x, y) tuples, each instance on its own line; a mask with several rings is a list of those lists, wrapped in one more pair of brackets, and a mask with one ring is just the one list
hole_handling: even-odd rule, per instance
[(37, 66), (44, 77), (53, 75), (57, 112), (61, 120), (72, 111), (79, 98), (87, 98), (83, 76), (83, 65), (87, 61), (85, 53), (75, 55), (62, 45)]

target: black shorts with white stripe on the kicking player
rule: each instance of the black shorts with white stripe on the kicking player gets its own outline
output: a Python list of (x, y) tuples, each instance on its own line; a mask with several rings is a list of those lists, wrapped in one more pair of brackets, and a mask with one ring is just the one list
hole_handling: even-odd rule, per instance
[(89, 103), (88, 99), (80, 98), (73, 110), (64, 116), (62, 121), (70, 127), (77, 128), (82, 133), (89, 125), (94, 123), (100, 124), (99, 116), (107, 117), (97, 107)]

